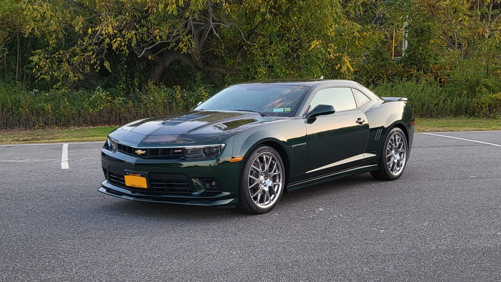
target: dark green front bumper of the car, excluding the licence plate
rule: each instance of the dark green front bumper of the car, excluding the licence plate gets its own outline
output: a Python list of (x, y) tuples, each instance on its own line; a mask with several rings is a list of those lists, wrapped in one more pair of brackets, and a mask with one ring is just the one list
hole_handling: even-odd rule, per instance
[[(224, 154), (223, 151), (217, 159), (180, 162), (143, 159), (121, 152), (112, 153), (103, 148), (101, 163), (106, 180), (101, 183), (98, 191), (134, 201), (206, 206), (234, 205), (237, 203), (242, 162), (231, 163), (230, 158), (231, 152)], [(170, 183), (170, 186), (182, 188), (153, 189), (152, 184), (157, 182), (156, 180), (148, 180), (148, 183), (151, 183), (148, 189), (127, 187), (117, 178), (123, 176), (125, 170), (147, 173), (152, 178), (162, 178), (161, 180)], [(201, 179), (214, 179), (220, 189), (205, 188), (201, 185)]]

